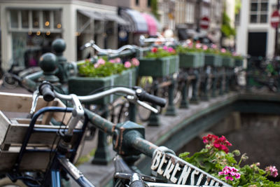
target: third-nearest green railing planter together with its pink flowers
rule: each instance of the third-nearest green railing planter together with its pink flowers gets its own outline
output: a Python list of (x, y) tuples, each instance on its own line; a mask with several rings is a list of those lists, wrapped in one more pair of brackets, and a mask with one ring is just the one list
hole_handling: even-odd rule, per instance
[(201, 43), (188, 43), (186, 46), (179, 46), (177, 52), (180, 57), (180, 67), (198, 68), (204, 67), (204, 50)]

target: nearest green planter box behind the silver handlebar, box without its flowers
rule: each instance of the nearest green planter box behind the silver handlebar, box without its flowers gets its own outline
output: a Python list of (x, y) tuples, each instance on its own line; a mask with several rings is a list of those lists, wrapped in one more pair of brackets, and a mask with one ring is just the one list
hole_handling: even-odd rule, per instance
[[(112, 76), (102, 78), (73, 76), (69, 78), (69, 93), (73, 93), (76, 95), (89, 95), (90, 92), (92, 92), (93, 90), (103, 87), (110, 87), (114, 85), (123, 85), (131, 87), (136, 84), (136, 76), (136, 68), (127, 69), (121, 74), (114, 74)], [(106, 90), (108, 90), (108, 88)], [(110, 95), (102, 99), (98, 99), (94, 102), (91, 102), (90, 104), (109, 104), (113, 102), (116, 98), (118, 98), (118, 96)]]

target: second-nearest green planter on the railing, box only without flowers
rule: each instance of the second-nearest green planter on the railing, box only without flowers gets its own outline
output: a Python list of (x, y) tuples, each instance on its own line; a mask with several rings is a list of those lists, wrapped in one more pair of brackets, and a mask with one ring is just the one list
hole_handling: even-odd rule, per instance
[(179, 56), (140, 59), (139, 76), (162, 77), (179, 71)]

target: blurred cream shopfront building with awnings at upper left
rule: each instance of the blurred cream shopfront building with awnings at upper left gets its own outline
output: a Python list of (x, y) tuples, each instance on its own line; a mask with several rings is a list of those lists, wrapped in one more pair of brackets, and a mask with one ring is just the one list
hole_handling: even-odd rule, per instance
[(0, 0), (1, 67), (38, 65), (57, 38), (66, 41), (69, 61), (93, 55), (91, 48), (80, 50), (90, 40), (100, 48), (137, 44), (139, 34), (160, 28), (149, 13), (150, 0)]

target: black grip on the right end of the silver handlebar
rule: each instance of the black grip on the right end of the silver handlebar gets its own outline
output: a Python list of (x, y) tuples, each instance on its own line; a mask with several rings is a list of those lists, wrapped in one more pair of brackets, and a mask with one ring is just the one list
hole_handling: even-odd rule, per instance
[(162, 97), (158, 97), (155, 95), (151, 95), (147, 93), (144, 90), (137, 89), (136, 91), (137, 97), (141, 102), (151, 102), (153, 104), (157, 104), (158, 106), (164, 107), (165, 104), (167, 103), (166, 99), (163, 99)]

